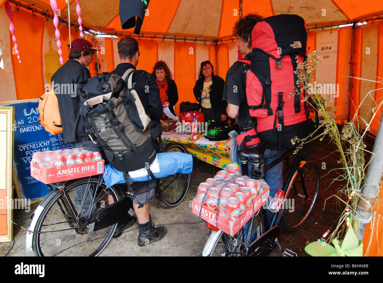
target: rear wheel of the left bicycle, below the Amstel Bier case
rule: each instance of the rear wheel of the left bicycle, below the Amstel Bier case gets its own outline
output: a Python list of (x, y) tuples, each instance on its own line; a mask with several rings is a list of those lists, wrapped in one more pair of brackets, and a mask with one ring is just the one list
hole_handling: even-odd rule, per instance
[[(97, 187), (97, 177), (82, 178), (65, 183), (65, 197), (69, 203), (75, 204), (75, 188), (87, 184), (89, 192), (96, 190), (93, 209), (101, 209), (119, 200), (115, 188), (105, 188), (105, 184)], [(83, 199), (86, 197), (84, 194)], [(113, 198), (113, 202), (111, 201)], [(33, 234), (33, 250), (36, 256), (97, 256), (106, 247), (116, 229), (116, 224), (101, 230), (81, 234), (77, 224), (83, 214), (88, 214), (74, 205), (74, 215), (65, 205), (58, 189), (51, 192), (44, 205)], [(90, 210), (90, 209), (89, 209)], [(87, 218), (87, 215), (84, 216)], [(84, 219), (84, 218), (83, 218)]]

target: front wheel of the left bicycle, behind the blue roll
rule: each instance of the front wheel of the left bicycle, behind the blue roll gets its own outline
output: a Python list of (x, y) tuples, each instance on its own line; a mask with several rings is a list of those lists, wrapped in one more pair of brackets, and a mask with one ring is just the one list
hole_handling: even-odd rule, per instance
[[(182, 145), (170, 144), (165, 148), (166, 152), (187, 153)], [(159, 185), (156, 188), (155, 196), (158, 201), (166, 207), (175, 207), (182, 202), (188, 192), (190, 184), (190, 173), (176, 173), (165, 178), (159, 179)]]

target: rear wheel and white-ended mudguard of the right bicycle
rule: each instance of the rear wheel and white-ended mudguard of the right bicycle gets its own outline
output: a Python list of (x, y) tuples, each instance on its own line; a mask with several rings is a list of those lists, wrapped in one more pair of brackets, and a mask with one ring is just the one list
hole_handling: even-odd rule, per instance
[[(257, 217), (257, 215), (255, 217)], [(258, 239), (265, 232), (266, 226), (263, 217), (259, 221), (257, 227), (252, 227), (252, 234), (257, 233), (255, 239)], [(244, 252), (243, 245), (241, 244), (241, 242), (243, 242), (243, 231), (243, 228), (240, 229), (234, 236), (226, 234), (221, 230), (211, 231), (209, 239), (199, 256), (212, 257), (220, 254), (221, 256), (231, 257), (245, 255), (246, 251)], [(219, 242), (222, 243), (222, 250), (216, 250)]]

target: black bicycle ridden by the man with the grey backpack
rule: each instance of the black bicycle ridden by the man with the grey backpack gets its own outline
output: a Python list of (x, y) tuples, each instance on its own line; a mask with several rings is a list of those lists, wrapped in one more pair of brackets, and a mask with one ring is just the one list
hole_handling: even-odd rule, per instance
[[(170, 144), (165, 148), (166, 152), (175, 150), (187, 153), (180, 145)], [(187, 194), (189, 183), (190, 174), (161, 178), (155, 195), (169, 207), (177, 206)], [(76, 207), (75, 188), (82, 185), (86, 191), (80, 207)], [(26, 242), (31, 242), (36, 256), (97, 256), (110, 242), (117, 223), (128, 217), (130, 192), (121, 191), (118, 185), (106, 188), (102, 174), (47, 186), (51, 192), (28, 224), (33, 234), (27, 233)], [(83, 212), (84, 200), (89, 194), (92, 209)]]

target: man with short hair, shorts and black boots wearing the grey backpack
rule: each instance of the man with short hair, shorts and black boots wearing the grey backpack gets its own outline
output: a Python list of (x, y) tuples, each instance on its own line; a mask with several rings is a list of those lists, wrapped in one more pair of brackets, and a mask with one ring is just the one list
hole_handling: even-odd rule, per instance
[[(128, 69), (134, 70), (132, 76), (133, 88), (137, 91), (146, 114), (151, 118), (151, 123), (155, 122), (158, 124), (163, 114), (159, 89), (151, 74), (143, 70), (136, 71), (138, 58), (140, 56), (137, 40), (132, 37), (124, 37), (119, 40), (117, 46), (121, 63), (118, 64), (116, 69), (110, 73), (123, 76), (124, 72)], [(150, 127), (151, 124), (149, 124), (149, 130), (151, 129)], [(152, 131), (151, 135), (153, 136)], [(159, 132), (159, 135), (161, 135), (161, 132)], [(144, 165), (142, 167), (144, 167)], [(136, 194), (136, 197), (133, 199), (133, 208), (137, 216), (139, 227), (139, 235), (137, 240), (137, 244), (139, 246), (159, 241), (165, 237), (167, 233), (165, 226), (154, 227), (152, 217), (149, 214), (149, 201), (154, 198), (156, 185), (156, 179), (146, 182), (134, 182), (132, 184), (135, 191), (138, 191), (138, 189), (140, 191), (145, 191), (144, 193)], [(143, 204), (143, 207), (139, 208), (139, 204)], [(124, 227), (119, 224), (119, 233), (122, 233), (122, 230), (129, 227), (129, 225), (130, 224), (127, 224), (126, 227)], [(119, 227), (117, 227), (117, 229)]]

